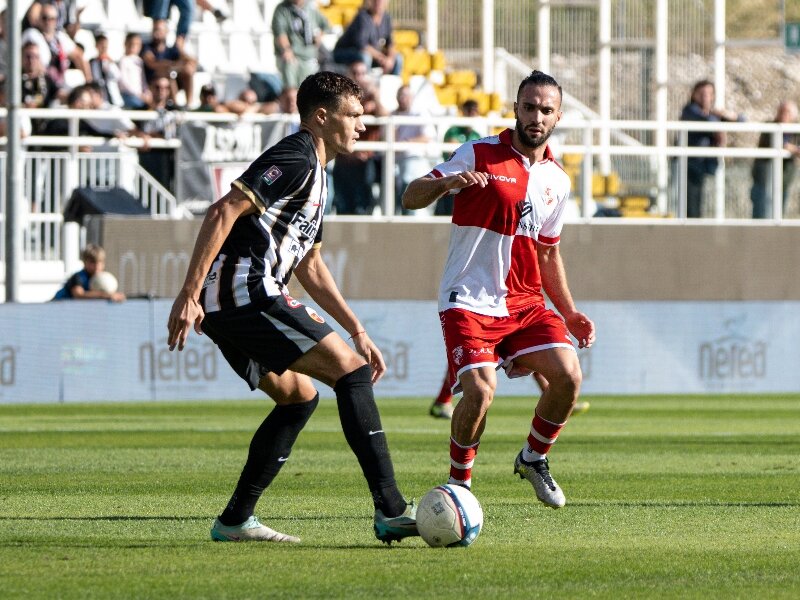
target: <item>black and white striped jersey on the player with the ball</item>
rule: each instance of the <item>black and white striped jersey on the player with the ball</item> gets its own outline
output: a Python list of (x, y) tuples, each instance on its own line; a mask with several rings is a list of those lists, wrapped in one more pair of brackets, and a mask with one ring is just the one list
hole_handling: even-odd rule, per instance
[(287, 294), (294, 268), (322, 242), (327, 179), (307, 131), (268, 148), (232, 185), (260, 214), (238, 219), (222, 244), (200, 296), (206, 312)]

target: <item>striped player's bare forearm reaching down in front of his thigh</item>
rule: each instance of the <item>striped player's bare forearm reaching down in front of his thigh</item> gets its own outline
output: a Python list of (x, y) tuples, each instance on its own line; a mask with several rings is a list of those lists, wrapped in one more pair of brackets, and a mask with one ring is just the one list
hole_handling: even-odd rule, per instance
[(345, 328), (353, 340), (356, 351), (372, 367), (372, 382), (386, 372), (386, 363), (378, 346), (370, 339), (361, 321), (350, 309), (339, 291), (333, 275), (328, 270), (319, 247), (312, 248), (294, 270), (297, 280), (319, 307)]

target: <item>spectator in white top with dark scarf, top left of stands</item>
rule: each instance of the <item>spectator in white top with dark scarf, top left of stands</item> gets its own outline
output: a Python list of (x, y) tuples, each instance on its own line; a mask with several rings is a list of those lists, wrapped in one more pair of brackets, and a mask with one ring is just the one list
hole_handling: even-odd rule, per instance
[(43, 4), (39, 19), (34, 27), (22, 34), (22, 44), (35, 42), (39, 46), (39, 56), (47, 73), (57, 85), (64, 85), (64, 75), (70, 64), (79, 69), (86, 81), (92, 78), (89, 63), (84, 59), (83, 50), (62, 29), (58, 29), (58, 9), (53, 4)]

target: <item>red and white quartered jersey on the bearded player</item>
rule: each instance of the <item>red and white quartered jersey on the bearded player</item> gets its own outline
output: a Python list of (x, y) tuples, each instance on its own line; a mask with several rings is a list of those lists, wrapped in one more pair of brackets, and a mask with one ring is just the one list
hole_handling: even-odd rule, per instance
[(537, 244), (558, 244), (569, 176), (553, 158), (531, 164), (511, 145), (512, 130), (467, 142), (430, 176), (487, 173), (485, 188), (459, 190), (453, 202), (450, 248), (439, 289), (439, 311), (462, 308), (508, 316), (544, 304)]

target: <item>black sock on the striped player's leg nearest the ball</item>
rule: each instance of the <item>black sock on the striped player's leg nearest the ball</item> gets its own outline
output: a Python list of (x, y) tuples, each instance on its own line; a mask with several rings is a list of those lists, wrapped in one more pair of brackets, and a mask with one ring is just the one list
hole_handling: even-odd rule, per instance
[(372, 392), (372, 369), (364, 365), (348, 373), (333, 390), (344, 437), (361, 465), (375, 508), (387, 517), (402, 514), (406, 501), (394, 480), (394, 466)]

